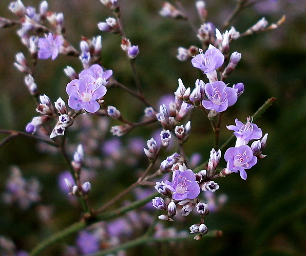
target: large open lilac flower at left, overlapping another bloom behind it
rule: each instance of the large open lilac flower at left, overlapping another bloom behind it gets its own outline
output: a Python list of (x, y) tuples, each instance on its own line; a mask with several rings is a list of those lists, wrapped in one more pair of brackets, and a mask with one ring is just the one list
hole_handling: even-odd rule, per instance
[(69, 95), (68, 105), (71, 109), (94, 113), (100, 109), (98, 99), (106, 94), (105, 79), (97, 80), (91, 75), (83, 75), (67, 84), (66, 92)]

